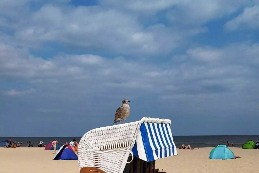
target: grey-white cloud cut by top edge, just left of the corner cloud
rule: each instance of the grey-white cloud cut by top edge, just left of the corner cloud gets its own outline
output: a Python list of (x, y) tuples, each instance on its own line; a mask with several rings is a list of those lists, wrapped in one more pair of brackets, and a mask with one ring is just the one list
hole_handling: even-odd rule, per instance
[(181, 1), (167, 12), (168, 19), (174, 24), (201, 25), (212, 19), (229, 16), (244, 5), (253, 1), (242, 0), (197, 0)]

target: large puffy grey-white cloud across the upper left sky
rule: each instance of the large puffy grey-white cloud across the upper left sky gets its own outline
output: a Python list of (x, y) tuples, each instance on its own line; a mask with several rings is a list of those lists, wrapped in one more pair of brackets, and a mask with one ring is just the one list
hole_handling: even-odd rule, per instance
[[(200, 27), (179, 29), (164, 24), (147, 27), (140, 22), (138, 14), (99, 6), (65, 8), (49, 4), (28, 14), (10, 22), (8, 27), (12, 27), (14, 37), (6, 36), (6, 41), (11, 39), (19, 46), (33, 49), (41, 47), (41, 43), (56, 42), (68, 49), (154, 56), (169, 53), (206, 31)], [(6, 25), (5, 20), (1, 19), (0, 24)]]

